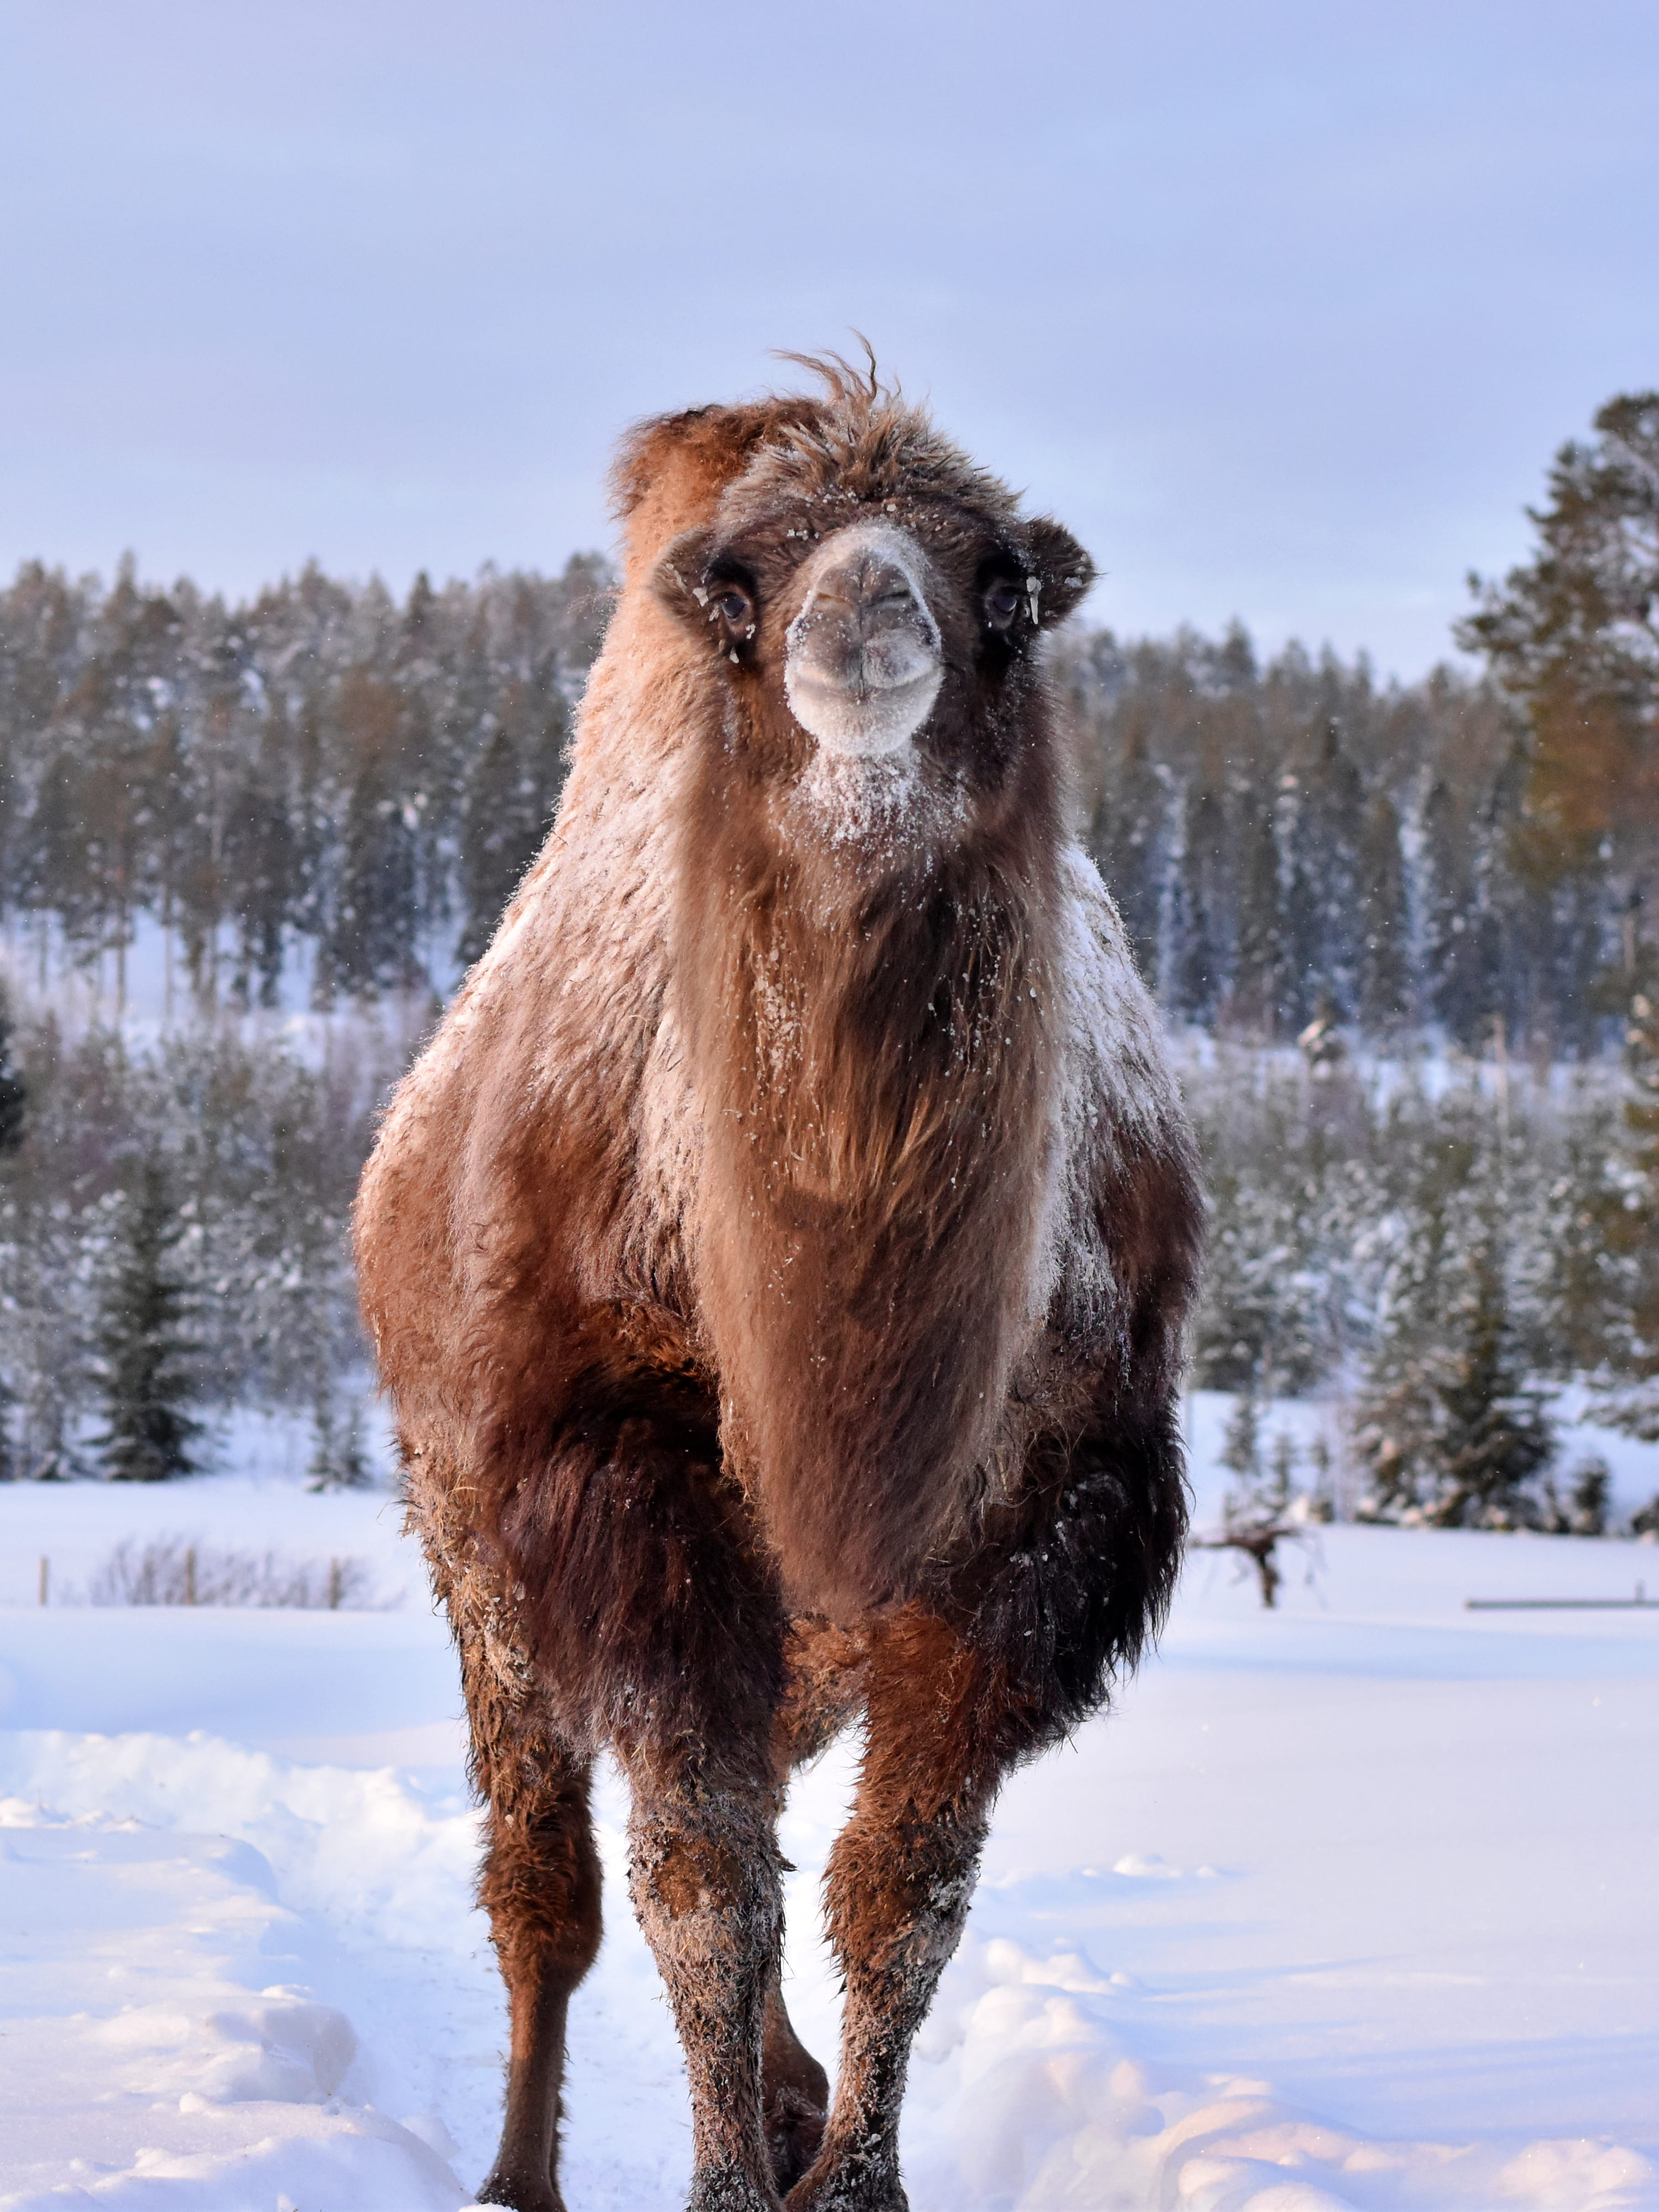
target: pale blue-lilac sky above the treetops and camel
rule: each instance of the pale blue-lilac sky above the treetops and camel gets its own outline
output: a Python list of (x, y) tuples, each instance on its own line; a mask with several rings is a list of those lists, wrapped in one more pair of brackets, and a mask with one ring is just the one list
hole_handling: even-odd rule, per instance
[(1088, 622), (1411, 679), (1659, 385), (1655, 115), (1652, 0), (0, 0), (0, 573), (557, 568), (858, 330)]

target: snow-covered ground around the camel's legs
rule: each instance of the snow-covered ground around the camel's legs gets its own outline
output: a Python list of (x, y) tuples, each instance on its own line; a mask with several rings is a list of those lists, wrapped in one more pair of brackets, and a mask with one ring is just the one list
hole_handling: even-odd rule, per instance
[[(1223, 1413), (1194, 1407), (1201, 1517)], [(4, 2212), (453, 2212), (489, 2161), (453, 1659), (396, 1506), (279, 1469), (0, 1489)], [(1659, 1451), (1619, 1475), (1650, 1495)], [(363, 1559), (403, 1601), (58, 1601), (155, 1535)], [(1637, 1582), (1648, 1544), (1336, 1526), (1265, 1615), (1194, 1553), (1119, 1712), (1002, 1798), (911, 2075), (916, 2212), (1659, 2208), (1659, 1610), (1464, 1608)], [(803, 1776), (783, 1838), (825, 2057), (849, 1772)], [(613, 1781), (602, 1820), (566, 2199), (672, 2212), (686, 2101)]]

